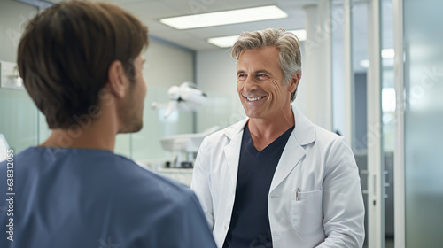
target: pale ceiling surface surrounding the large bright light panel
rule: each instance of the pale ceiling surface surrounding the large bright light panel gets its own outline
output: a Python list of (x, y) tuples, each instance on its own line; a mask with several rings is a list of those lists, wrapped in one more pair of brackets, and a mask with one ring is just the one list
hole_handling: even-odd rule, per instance
[[(52, 0), (58, 3), (63, 0)], [(103, 1), (103, 0), (101, 0)], [(149, 34), (190, 50), (214, 50), (207, 38), (238, 35), (242, 31), (253, 31), (268, 27), (287, 30), (303, 28), (305, 13), (303, 6), (317, 4), (318, 0), (105, 0), (118, 4), (136, 15), (148, 26)], [(288, 14), (285, 19), (254, 21), (219, 27), (202, 27), (177, 30), (161, 24), (159, 19), (206, 12), (221, 12), (243, 8), (276, 5)]]

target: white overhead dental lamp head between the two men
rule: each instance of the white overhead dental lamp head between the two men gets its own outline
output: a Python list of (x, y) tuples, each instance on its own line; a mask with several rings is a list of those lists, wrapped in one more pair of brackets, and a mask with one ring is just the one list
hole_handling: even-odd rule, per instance
[[(164, 115), (165, 118), (177, 108), (183, 111), (198, 111), (206, 103), (206, 94), (190, 81), (185, 81), (180, 86), (172, 86), (167, 90), (167, 95), (169, 103)], [(161, 105), (158, 103), (152, 103), (152, 108), (160, 107)]]

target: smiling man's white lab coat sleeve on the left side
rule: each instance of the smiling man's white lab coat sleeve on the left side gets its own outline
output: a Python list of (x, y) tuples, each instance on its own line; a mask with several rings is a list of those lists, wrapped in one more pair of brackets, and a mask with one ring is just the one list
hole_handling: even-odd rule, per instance
[(206, 221), (209, 224), (209, 228), (214, 229), (214, 210), (213, 199), (210, 190), (210, 174), (209, 174), (209, 158), (208, 143), (205, 139), (201, 143), (198, 149), (197, 159), (194, 164), (194, 170), (192, 172), (192, 181), (190, 183), (190, 189), (194, 190), (197, 195), (200, 205), (205, 213)]

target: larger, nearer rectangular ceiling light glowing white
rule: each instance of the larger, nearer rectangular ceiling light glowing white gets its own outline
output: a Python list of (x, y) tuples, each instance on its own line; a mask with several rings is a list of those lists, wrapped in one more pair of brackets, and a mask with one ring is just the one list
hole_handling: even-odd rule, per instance
[(282, 19), (288, 17), (276, 5), (248, 8), (227, 12), (213, 12), (181, 17), (160, 19), (160, 22), (176, 29), (213, 27), (234, 23), (243, 23), (264, 19)]

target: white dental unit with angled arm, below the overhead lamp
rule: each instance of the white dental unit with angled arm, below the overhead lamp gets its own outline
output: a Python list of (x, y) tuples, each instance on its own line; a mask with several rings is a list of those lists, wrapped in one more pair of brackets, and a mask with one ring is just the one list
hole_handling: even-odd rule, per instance
[[(219, 129), (220, 127), (214, 126), (198, 134), (183, 134), (161, 138), (160, 143), (163, 149), (173, 152), (174, 159), (169, 162), (169, 167), (193, 167), (194, 154), (197, 153), (200, 143), (203, 142), (206, 136)], [(183, 153), (186, 155), (183, 156)]]

